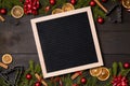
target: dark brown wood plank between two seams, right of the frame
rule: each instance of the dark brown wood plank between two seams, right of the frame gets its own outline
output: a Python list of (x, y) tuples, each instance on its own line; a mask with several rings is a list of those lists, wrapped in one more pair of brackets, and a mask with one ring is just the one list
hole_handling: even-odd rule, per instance
[(100, 32), (103, 54), (130, 54), (130, 32)]

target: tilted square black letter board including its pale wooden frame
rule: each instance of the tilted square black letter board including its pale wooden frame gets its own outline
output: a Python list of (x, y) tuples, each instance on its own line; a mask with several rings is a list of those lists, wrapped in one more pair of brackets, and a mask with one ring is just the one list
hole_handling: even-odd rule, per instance
[(43, 77), (103, 66), (90, 8), (31, 19)]

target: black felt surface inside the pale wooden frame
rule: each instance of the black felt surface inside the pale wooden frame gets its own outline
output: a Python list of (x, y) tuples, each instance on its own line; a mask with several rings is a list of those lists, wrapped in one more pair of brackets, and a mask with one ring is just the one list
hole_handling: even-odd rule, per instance
[(48, 72), (98, 61), (87, 13), (37, 23)]

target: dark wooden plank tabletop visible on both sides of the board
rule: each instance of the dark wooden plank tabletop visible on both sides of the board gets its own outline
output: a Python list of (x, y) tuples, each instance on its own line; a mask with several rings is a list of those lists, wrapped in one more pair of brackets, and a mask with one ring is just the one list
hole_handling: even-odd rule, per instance
[[(28, 61), (39, 62), (30, 19), (38, 16), (27, 15), (21, 19), (4, 16), (0, 23), (0, 57), (10, 53), (14, 66), (28, 67)], [(20, 22), (20, 25), (16, 23)], [(130, 12), (122, 11), (122, 23), (95, 23), (104, 64), (109, 67), (114, 61), (130, 62)], [(1, 60), (1, 59), (0, 59)]]

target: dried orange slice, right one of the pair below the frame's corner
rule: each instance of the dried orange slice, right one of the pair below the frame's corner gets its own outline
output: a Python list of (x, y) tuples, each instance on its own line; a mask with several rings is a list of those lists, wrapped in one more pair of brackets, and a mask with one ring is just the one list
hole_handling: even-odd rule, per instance
[(109, 70), (105, 67), (102, 67), (102, 72), (98, 76), (100, 81), (106, 81), (109, 77)]

